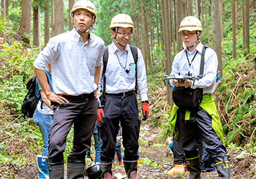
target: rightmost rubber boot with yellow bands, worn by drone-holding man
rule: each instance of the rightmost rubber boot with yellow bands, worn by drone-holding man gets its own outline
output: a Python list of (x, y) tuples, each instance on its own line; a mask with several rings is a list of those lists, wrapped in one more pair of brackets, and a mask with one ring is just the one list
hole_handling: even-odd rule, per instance
[(228, 156), (217, 156), (214, 159), (215, 167), (217, 168), (219, 178), (229, 179), (230, 178), (230, 165), (228, 162)]

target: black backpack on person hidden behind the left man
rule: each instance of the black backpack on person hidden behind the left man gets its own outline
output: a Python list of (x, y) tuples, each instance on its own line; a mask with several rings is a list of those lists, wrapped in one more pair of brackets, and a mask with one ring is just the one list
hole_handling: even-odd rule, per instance
[(26, 83), (26, 88), (29, 90), (26, 94), (25, 98), (23, 99), (23, 102), (21, 103), (21, 112), (23, 115), (25, 115), (28, 118), (32, 118), (34, 115), (34, 110), (37, 108), (37, 104), (39, 102), (39, 99), (37, 99), (36, 96), (36, 80), (37, 77), (34, 75), (34, 77), (31, 77)]

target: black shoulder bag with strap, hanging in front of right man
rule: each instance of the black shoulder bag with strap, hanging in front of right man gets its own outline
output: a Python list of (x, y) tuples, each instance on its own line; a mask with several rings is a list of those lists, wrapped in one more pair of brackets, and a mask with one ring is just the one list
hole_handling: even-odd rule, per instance
[[(201, 62), (200, 62), (200, 75), (203, 75), (204, 68), (204, 56), (206, 53), (206, 46), (203, 46)], [(194, 110), (202, 102), (203, 88), (185, 88), (174, 87), (173, 88), (173, 102), (176, 106), (184, 108), (186, 110)]]

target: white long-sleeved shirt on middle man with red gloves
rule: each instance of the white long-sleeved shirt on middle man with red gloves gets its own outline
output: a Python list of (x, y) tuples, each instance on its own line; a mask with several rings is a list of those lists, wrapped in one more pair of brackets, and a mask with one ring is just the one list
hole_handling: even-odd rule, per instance
[[(148, 100), (148, 88), (146, 82), (146, 68), (143, 60), (142, 53), (138, 49), (138, 91), (140, 93), (140, 100)], [(120, 64), (119, 64), (120, 61)], [(125, 69), (130, 69), (129, 64), (135, 63), (132, 50), (127, 45), (124, 51), (121, 51), (116, 47), (114, 42), (108, 46), (108, 64), (105, 72), (106, 76), (106, 93), (107, 94), (118, 94), (127, 92), (135, 89), (135, 74), (129, 76), (132, 72), (127, 73)], [(102, 65), (103, 69), (103, 65)], [(99, 78), (100, 87), (103, 88), (102, 69)]]

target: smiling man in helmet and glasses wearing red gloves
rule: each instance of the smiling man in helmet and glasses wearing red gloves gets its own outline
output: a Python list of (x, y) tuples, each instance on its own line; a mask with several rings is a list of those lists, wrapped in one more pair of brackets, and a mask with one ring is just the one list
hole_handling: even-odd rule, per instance
[[(148, 118), (148, 88), (146, 68), (138, 47), (129, 45), (132, 31), (135, 30), (129, 15), (118, 14), (111, 20), (111, 45), (106, 47), (103, 56), (102, 74), (99, 88), (102, 89), (102, 103), (97, 121), (99, 137), (102, 138), (100, 164), (102, 178), (112, 178), (112, 160), (115, 155), (116, 135), (121, 123), (124, 145), (124, 168), (128, 178), (137, 178), (138, 138), (140, 117), (136, 93), (139, 91), (144, 120)], [(106, 57), (108, 56), (108, 57)], [(105, 102), (104, 102), (105, 101)], [(104, 116), (102, 118), (102, 116)]]

